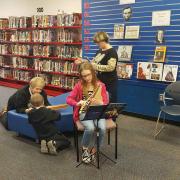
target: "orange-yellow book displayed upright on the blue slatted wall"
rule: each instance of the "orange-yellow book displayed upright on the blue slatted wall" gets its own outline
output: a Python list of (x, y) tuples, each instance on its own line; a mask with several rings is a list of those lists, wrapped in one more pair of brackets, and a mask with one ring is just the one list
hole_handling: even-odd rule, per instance
[(166, 46), (156, 46), (154, 62), (164, 62), (166, 56)]

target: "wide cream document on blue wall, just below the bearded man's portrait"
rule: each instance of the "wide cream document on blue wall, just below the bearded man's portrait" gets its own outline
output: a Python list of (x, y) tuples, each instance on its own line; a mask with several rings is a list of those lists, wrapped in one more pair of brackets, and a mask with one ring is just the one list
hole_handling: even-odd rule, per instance
[(140, 26), (126, 26), (125, 39), (139, 39)]

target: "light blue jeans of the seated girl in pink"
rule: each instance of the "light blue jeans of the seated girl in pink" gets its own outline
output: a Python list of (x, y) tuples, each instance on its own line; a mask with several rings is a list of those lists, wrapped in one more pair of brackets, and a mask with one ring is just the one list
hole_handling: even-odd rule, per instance
[[(83, 147), (93, 147), (96, 144), (96, 137), (94, 136), (94, 130), (97, 125), (97, 120), (87, 120), (82, 121), (84, 119), (85, 113), (82, 113), (80, 115), (81, 123), (84, 125), (84, 134), (82, 138), (82, 146)], [(98, 121), (98, 127), (99, 127), (99, 146), (103, 144), (105, 132), (106, 132), (106, 120), (100, 119)]]

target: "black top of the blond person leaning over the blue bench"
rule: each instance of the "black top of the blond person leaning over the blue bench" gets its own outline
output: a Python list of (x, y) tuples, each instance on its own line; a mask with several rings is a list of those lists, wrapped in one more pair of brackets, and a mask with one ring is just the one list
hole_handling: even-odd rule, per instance
[[(47, 99), (47, 94), (44, 90), (40, 93), (44, 98), (44, 105), (48, 106), (50, 103)], [(12, 109), (16, 109), (18, 113), (25, 113), (25, 110), (28, 108), (28, 104), (31, 98), (31, 94), (29, 92), (29, 85), (24, 86), (19, 89), (15, 94), (13, 94), (8, 100), (8, 111)]]

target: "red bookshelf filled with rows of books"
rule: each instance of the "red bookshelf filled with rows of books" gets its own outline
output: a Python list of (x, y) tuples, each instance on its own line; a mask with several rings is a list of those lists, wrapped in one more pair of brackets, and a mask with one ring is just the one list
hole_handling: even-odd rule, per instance
[(0, 18), (0, 85), (21, 88), (34, 76), (48, 95), (70, 91), (78, 81), (81, 14)]

